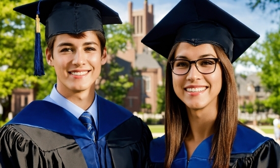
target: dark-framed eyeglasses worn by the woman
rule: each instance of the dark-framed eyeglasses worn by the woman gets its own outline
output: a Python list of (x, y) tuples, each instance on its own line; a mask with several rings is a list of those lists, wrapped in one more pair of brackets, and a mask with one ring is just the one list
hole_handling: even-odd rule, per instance
[(213, 73), (216, 69), (216, 64), (220, 60), (217, 58), (198, 59), (195, 61), (188, 61), (183, 59), (176, 59), (169, 61), (172, 72), (176, 75), (184, 75), (190, 70), (190, 65), (195, 64), (195, 67), (200, 73)]

